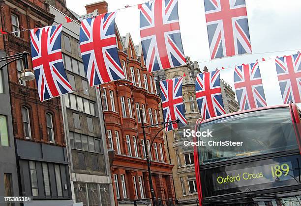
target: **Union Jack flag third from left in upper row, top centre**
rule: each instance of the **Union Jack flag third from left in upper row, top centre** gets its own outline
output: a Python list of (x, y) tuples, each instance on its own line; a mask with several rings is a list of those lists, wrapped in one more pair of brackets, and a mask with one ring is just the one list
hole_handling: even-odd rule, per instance
[(186, 64), (183, 52), (178, 0), (140, 4), (140, 36), (149, 72)]

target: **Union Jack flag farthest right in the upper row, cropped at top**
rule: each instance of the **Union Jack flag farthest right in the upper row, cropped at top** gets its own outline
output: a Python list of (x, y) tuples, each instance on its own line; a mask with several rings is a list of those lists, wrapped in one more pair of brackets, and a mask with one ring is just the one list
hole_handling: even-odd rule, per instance
[(245, 0), (204, 0), (211, 59), (251, 53)]

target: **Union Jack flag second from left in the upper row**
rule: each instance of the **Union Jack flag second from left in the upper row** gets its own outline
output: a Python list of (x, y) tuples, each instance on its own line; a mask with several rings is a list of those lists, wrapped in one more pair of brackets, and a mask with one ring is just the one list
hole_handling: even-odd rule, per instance
[(82, 21), (80, 48), (90, 86), (125, 78), (117, 51), (115, 12)]

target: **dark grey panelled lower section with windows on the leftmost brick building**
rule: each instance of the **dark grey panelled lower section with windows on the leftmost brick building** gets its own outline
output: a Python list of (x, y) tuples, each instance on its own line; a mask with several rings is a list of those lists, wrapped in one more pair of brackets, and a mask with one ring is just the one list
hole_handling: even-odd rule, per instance
[(20, 193), (27, 205), (72, 205), (66, 148), (16, 139)]

